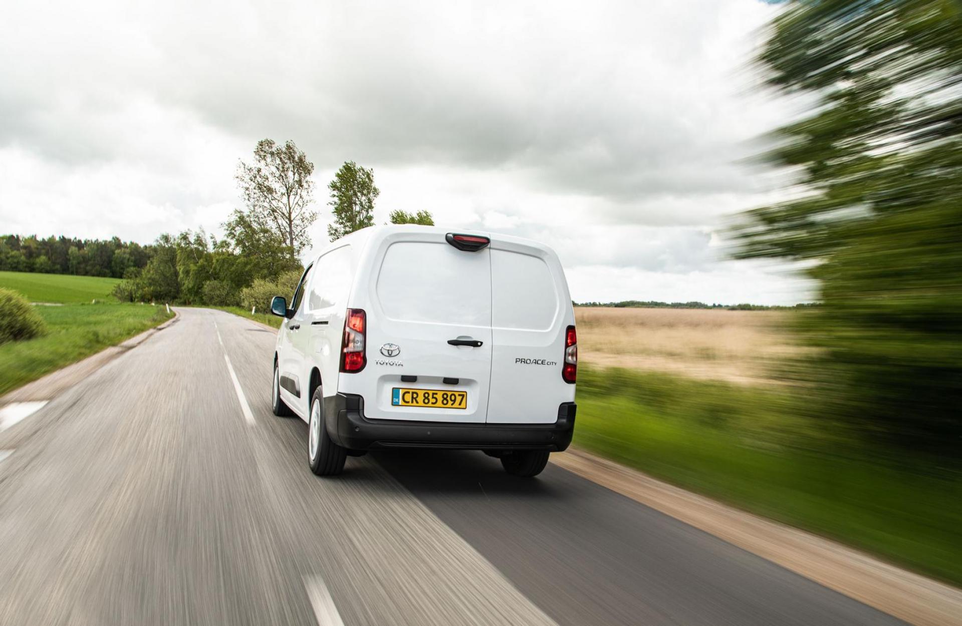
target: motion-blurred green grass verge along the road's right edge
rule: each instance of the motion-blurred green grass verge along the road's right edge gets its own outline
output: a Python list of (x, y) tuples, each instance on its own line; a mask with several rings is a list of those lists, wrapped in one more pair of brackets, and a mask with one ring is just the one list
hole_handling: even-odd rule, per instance
[[(580, 368), (579, 368), (580, 369)], [(575, 445), (956, 586), (962, 476), (828, 438), (799, 389), (578, 372)]]

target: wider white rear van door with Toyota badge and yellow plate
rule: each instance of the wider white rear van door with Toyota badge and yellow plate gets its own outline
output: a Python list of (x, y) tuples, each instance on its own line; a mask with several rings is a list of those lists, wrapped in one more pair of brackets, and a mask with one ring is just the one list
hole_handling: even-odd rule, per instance
[(492, 358), (489, 250), (460, 250), (438, 232), (398, 233), (380, 242), (374, 259), (369, 371), (357, 381), (366, 416), (483, 423)]

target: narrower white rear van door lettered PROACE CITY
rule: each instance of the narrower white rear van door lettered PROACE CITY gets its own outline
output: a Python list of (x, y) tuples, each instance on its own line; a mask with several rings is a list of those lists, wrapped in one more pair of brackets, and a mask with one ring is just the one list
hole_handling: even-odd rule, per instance
[(488, 423), (546, 424), (558, 419), (574, 386), (562, 378), (565, 334), (574, 324), (568, 284), (550, 250), (493, 238), (492, 378)]

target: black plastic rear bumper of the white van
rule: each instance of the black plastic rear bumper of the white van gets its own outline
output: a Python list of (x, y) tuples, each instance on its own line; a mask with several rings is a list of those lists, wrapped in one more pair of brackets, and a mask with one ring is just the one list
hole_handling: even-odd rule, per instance
[(324, 399), (324, 420), (334, 442), (352, 450), (447, 448), (452, 450), (550, 450), (568, 448), (575, 404), (558, 407), (551, 424), (461, 424), (367, 419), (364, 398), (339, 393)]

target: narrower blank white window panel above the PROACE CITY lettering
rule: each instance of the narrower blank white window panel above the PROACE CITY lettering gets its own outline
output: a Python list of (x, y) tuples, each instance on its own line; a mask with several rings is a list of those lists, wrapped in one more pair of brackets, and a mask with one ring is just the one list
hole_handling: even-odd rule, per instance
[(545, 331), (558, 314), (558, 289), (544, 260), (520, 252), (491, 251), (494, 328)]

